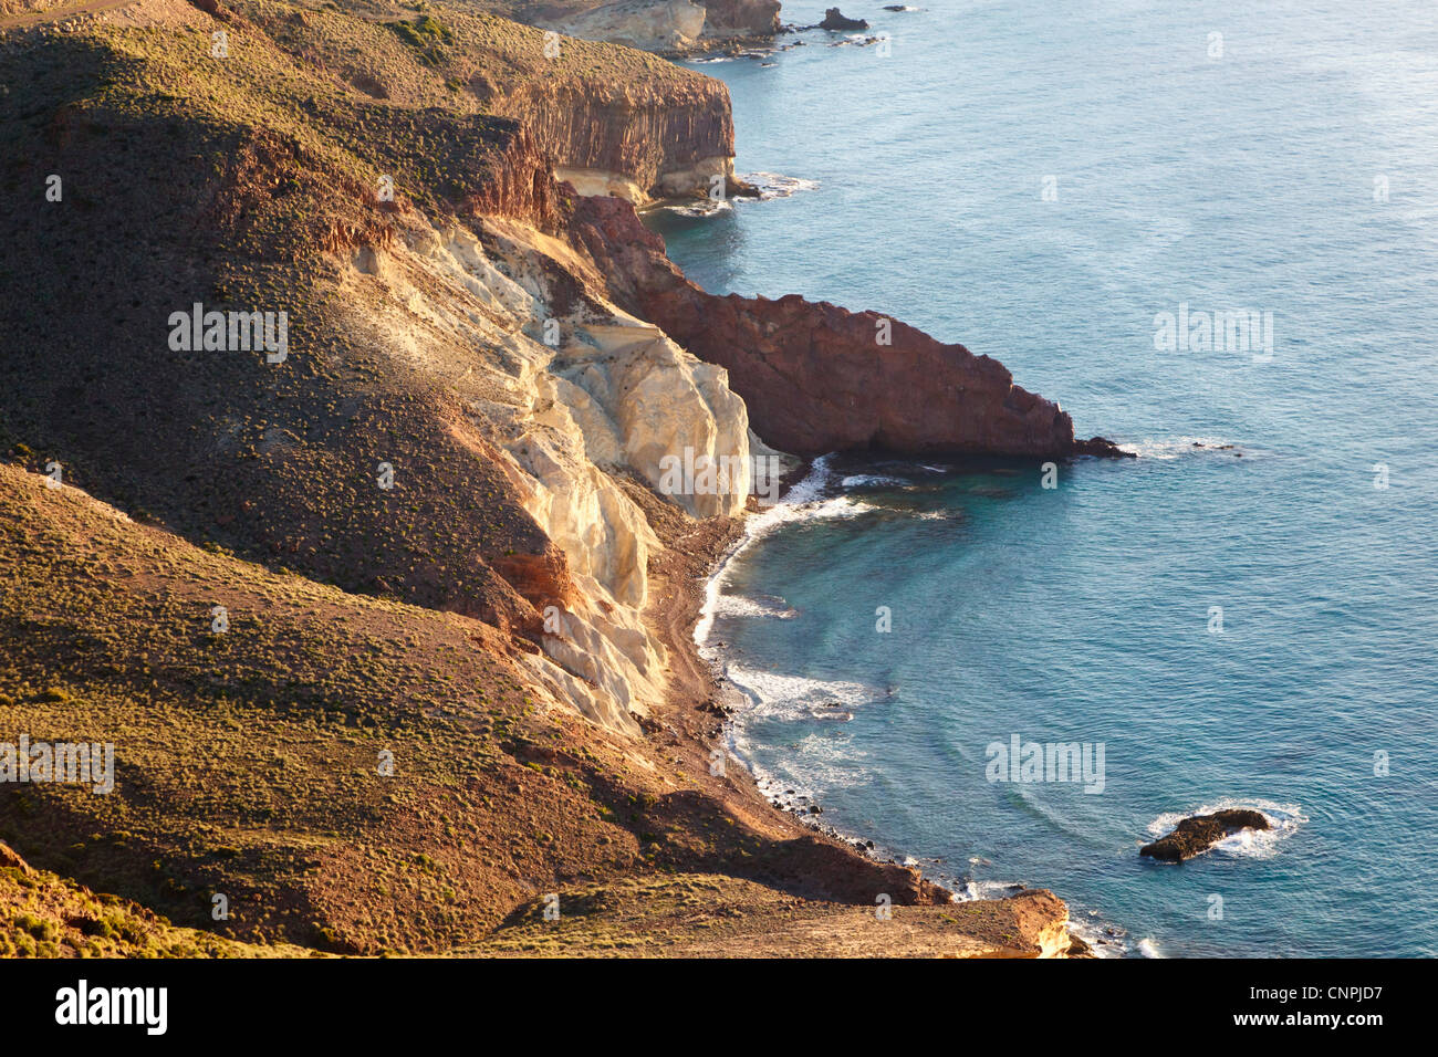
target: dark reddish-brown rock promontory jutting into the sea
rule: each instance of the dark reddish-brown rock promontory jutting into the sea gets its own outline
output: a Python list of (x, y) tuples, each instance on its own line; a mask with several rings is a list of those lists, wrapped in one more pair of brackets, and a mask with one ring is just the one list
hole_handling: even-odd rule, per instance
[(706, 293), (626, 203), (584, 200), (571, 230), (621, 303), (728, 370), (754, 430), (784, 452), (1119, 454), (1103, 439), (1076, 441), (1068, 414), (998, 361), (897, 319), (797, 295)]

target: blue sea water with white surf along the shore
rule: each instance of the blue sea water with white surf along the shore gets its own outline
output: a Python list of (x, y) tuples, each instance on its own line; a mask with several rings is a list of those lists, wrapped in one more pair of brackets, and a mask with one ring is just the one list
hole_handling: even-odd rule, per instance
[[(843, 4), (887, 55), (696, 63), (739, 171), (797, 183), (650, 223), (706, 289), (890, 312), (1140, 457), (824, 460), (713, 585), (735, 752), (1104, 953), (1438, 953), (1432, 3), (916, 6)], [(1271, 352), (1156, 348), (1182, 303)], [(1102, 743), (1102, 792), (989, 781), (1015, 735)], [(1274, 834), (1137, 856), (1227, 804)]]

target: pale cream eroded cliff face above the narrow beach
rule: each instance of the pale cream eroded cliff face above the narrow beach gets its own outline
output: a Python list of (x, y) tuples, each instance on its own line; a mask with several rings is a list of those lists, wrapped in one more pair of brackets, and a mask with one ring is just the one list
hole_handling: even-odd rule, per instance
[[(569, 590), (533, 597), (541, 620), (528, 631), (542, 651), (525, 662), (554, 699), (634, 735), (666, 689), (666, 650), (644, 620), (660, 544), (615, 475), (657, 486), (661, 460), (686, 449), (748, 465), (748, 414), (722, 368), (591, 296), (568, 257), (502, 216), (479, 234), (416, 216), (391, 246), (355, 250), (342, 283), (365, 306), (354, 329), (385, 334), (397, 368), (453, 394), (452, 434), (505, 467), (564, 557)], [(745, 495), (672, 499), (712, 516), (736, 513)], [(499, 569), (531, 597), (525, 569)]]

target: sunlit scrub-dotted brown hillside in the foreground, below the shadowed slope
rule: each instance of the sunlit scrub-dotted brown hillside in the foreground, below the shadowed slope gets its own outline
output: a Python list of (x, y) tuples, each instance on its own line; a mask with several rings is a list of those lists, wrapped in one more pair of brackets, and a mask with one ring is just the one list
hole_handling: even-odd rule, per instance
[[(177, 926), (357, 953), (699, 952), (710, 936), (761, 953), (782, 946), (775, 910), (807, 943), (863, 952), (846, 922), (871, 912), (851, 903), (928, 899), (912, 871), (707, 775), (692, 731), (636, 742), (548, 700), (470, 618), (273, 574), (9, 466), (0, 531), (6, 728), (116, 758), (109, 795), (7, 790), (0, 838)], [(670, 722), (705, 726), (693, 709)], [(636, 889), (653, 897), (623, 897)], [(1051, 946), (1050, 900), (900, 907), (894, 952)], [(14, 928), (33, 933), (26, 906)]]

